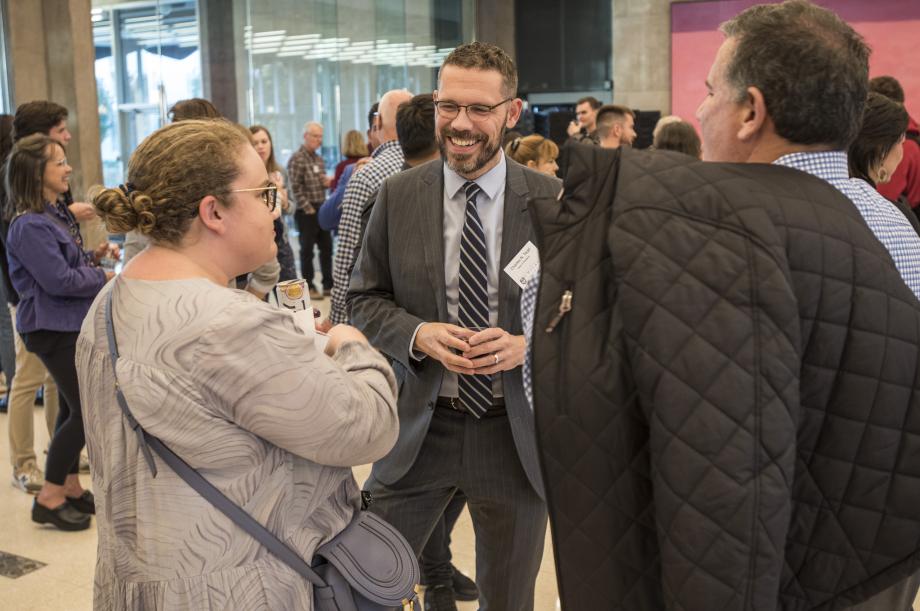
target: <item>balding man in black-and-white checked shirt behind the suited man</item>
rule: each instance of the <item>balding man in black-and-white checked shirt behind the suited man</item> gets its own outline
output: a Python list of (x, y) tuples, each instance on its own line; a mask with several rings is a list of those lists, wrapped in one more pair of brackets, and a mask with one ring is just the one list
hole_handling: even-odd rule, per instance
[(355, 248), (361, 239), (361, 211), (367, 200), (376, 196), (383, 181), (401, 171), (405, 158), (396, 135), (396, 110), (403, 102), (412, 99), (405, 89), (394, 89), (383, 94), (378, 109), (378, 146), (371, 155), (371, 161), (360, 170), (355, 170), (345, 197), (342, 199), (342, 219), (339, 221), (339, 246), (335, 252), (335, 283), (332, 287), (332, 308), (329, 322), (334, 325), (348, 322), (345, 311), (345, 294), (354, 266)]

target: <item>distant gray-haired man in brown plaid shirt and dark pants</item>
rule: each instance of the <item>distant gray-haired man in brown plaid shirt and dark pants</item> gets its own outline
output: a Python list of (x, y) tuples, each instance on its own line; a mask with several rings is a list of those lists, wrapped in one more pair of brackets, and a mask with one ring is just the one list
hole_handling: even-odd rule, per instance
[[(332, 290), (332, 236), (320, 229), (316, 211), (326, 199), (326, 164), (319, 154), (323, 146), (323, 126), (311, 121), (304, 126), (303, 146), (288, 161), (288, 177), (297, 210), (294, 220), (300, 234), (300, 270), (310, 285), (310, 297), (320, 299), (323, 293), (316, 290), (313, 270), (313, 247), (319, 245), (319, 265), (323, 273), (323, 292)], [(348, 280), (345, 280), (346, 285)]]

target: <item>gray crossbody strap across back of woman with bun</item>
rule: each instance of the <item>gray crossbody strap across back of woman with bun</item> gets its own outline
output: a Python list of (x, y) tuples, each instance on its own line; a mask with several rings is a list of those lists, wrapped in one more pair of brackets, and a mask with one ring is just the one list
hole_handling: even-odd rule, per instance
[(274, 554), (279, 560), (296, 571), (301, 577), (312, 583), (318, 588), (325, 588), (326, 584), (316, 572), (301, 558), (294, 550), (285, 545), (271, 531), (259, 524), (255, 518), (243, 511), (243, 509), (228, 499), (220, 490), (214, 487), (211, 482), (206, 480), (198, 471), (193, 469), (182, 460), (175, 452), (170, 450), (162, 441), (144, 430), (138, 421), (131, 415), (128, 408), (128, 401), (125, 399), (121, 387), (118, 385), (118, 374), (115, 364), (118, 362), (118, 344), (115, 342), (115, 323), (112, 317), (112, 295), (114, 286), (109, 290), (105, 303), (105, 326), (106, 335), (109, 339), (109, 355), (112, 360), (112, 374), (115, 376), (115, 396), (118, 399), (118, 406), (128, 420), (128, 424), (138, 435), (138, 443), (144, 458), (150, 466), (153, 476), (156, 477), (156, 463), (150, 449), (169, 465), (176, 474), (181, 477), (186, 484), (193, 490), (203, 496), (209, 503), (214, 505), (222, 514), (233, 520), (234, 524), (242, 528), (246, 533), (256, 541), (265, 546), (268, 551)]

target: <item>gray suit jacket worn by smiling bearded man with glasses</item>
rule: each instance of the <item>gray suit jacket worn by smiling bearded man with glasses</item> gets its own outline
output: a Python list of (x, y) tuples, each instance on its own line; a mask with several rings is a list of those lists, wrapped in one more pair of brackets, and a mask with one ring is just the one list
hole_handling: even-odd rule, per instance
[[(555, 197), (562, 183), (508, 159), (501, 264), (533, 240), (527, 200)], [(383, 484), (398, 481), (415, 462), (435, 409), (444, 368), (438, 361), (409, 356), (409, 342), (423, 322), (447, 322), (444, 281), (444, 173), (432, 161), (384, 181), (371, 213), (361, 253), (348, 288), (353, 325), (390, 358), (399, 384), (399, 440), (374, 463)], [(507, 274), (499, 280), (498, 326), (520, 335), (521, 290)], [(542, 498), (533, 412), (524, 398), (521, 368), (502, 374), (505, 406), (518, 456)]]

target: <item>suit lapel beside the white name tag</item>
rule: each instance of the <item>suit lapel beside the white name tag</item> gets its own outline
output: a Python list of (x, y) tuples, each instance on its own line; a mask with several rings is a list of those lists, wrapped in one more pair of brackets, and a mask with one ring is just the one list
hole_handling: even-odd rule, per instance
[(505, 179), (505, 210), (502, 219), (502, 252), (498, 273), (498, 326), (509, 332), (520, 321), (521, 289), (504, 272), (527, 240), (531, 239), (530, 219), (527, 216), (527, 198), (530, 189), (524, 178), (524, 170), (511, 159)]

